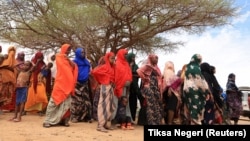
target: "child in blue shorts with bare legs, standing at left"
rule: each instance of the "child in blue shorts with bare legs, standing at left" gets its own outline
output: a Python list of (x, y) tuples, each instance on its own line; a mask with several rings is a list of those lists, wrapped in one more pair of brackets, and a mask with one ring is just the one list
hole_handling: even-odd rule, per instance
[(24, 104), (27, 99), (27, 91), (30, 80), (30, 69), (32, 67), (32, 63), (30, 61), (25, 61), (24, 66), (21, 69), (20, 73), (17, 76), (17, 84), (16, 84), (16, 106), (15, 106), (15, 114), (11, 121), (20, 122), (22, 112), (24, 109)]

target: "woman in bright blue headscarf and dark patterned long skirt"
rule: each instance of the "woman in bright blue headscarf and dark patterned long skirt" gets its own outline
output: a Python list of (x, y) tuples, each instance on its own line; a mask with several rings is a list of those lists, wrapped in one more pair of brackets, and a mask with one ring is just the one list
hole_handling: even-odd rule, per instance
[(92, 104), (89, 93), (90, 63), (86, 58), (84, 48), (75, 50), (74, 62), (78, 67), (78, 77), (75, 87), (75, 95), (72, 96), (71, 122), (92, 120)]

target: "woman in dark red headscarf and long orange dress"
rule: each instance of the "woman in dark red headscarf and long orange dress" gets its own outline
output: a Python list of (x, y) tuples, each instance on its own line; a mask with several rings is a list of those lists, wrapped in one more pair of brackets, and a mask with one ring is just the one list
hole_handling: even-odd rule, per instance
[(24, 110), (26, 112), (37, 111), (40, 115), (48, 104), (46, 95), (46, 79), (42, 75), (42, 69), (45, 67), (43, 53), (37, 52), (31, 60), (33, 68), (31, 69), (30, 87), (28, 89), (27, 101)]

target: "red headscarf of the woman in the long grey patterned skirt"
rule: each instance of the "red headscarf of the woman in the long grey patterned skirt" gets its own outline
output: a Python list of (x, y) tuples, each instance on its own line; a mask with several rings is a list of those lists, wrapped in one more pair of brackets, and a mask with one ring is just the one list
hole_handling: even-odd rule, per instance
[(114, 56), (113, 52), (106, 53), (104, 57), (105, 64), (97, 66), (91, 73), (99, 84), (110, 84), (115, 81), (114, 65), (110, 64), (109, 58)]

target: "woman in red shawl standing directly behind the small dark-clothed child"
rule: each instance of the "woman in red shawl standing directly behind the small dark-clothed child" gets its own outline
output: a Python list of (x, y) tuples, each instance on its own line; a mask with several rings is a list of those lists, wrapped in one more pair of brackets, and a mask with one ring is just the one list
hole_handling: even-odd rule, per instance
[[(120, 49), (116, 55), (115, 96), (118, 99), (121, 96), (126, 96), (129, 99), (130, 84), (132, 82), (132, 71), (127, 61), (126, 55), (128, 55), (128, 51), (126, 49)], [(116, 98), (115, 103), (118, 105), (118, 100)], [(116, 112), (113, 116), (115, 116), (115, 114)], [(126, 116), (130, 117), (132, 120), (129, 102), (126, 107)]]

